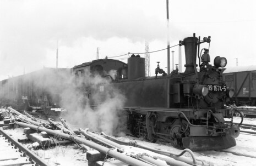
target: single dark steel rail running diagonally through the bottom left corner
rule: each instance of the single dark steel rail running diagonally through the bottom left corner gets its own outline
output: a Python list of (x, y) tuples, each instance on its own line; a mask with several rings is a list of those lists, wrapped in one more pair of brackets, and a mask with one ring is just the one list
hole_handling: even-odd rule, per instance
[(0, 129), (0, 132), (15, 146), (17, 146), (21, 151), (23, 151), (26, 155), (28, 155), (32, 161), (36, 162), (40, 166), (50, 166), (48, 163), (44, 161), (44, 159), (37, 156), (35, 153), (30, 151), (28, 148), (24, 147), (22, 144), (20, 144), (18, 141), (11, 138), (7, 133), (5, 133), (2, 129)]

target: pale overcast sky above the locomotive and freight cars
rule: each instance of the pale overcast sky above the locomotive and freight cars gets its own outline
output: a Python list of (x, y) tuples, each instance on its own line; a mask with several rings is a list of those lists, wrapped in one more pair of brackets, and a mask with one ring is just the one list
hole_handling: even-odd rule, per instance
[[(251, 0), (170, 0), (170, 45), (195, 32), (211, 36), (212, 61), (225, 56), (227, 67), (236, 66), (236, 58), (238, 66), (256, 65), (255, 8)], [(57, 41), (59, 67), (95, 60), (97, 47), (100, 58), (144, 52), (145, 41), (150, 51), (164, 49), (166, 0), (0, 0), (1, 80), (22, 75), (24, 68), (56, 67)], [(178, 47), (171, 50), (178, 64)], [(166, 50), (150, 54), (151, 75), (156, 61), (167, 71)]]

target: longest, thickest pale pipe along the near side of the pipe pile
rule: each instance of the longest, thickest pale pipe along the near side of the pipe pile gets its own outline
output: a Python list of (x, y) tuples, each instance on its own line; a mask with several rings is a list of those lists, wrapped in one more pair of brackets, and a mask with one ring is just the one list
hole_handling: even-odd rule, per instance
[(23, 123), (23, 122), (14, 122), (14, 123), (18, 124), (22, 127), (29, 127), (31, 129), (34, 129), (34, 130), (45, 131), (46, 133), (51, 134), (51, 135), (59, 136), (61, 138), (68, 139), (68, 140), (77, 141), (77, 142), (79, 142), (79, 144), (84, 144), (86, 146), (94, 148), (95, 150), (100, 151), (101, 153), (107, 154), (108, 156), (116, 158), (119, 161), (122, 161), (124, 163), (129, 164), (129, 165), (152, 166), (151, 164), (141, 162), (138, 159), (126, 156), (125, 154), (119, 153), (115, 150), (112, 150), (111, 148), (107, 148), (107, 147), (101, 146), (99, 144), (96, 144), (95, 142), (92, 142), (92, 141), (89, 141), (89, 140), (86, 140), (86, 139), (83, 139), (83, 138), (79, 138), (78, 136), (70, 136), (69, 134), (61, 133), (61, 132), (51, 130), (51, 129), (47, 129), (47, 128), (44, 128), (44, 127), (38, 127), (38, 126), (35, 126), (35, 125), (26, 124), (26, 123)]

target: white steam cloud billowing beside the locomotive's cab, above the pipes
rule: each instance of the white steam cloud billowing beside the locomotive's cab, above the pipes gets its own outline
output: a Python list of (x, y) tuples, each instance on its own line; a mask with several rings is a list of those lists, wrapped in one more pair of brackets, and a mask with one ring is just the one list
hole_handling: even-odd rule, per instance
[[(108, 73), (111, 75), (112, 71)], [(77, 80), (77, 79), (76, 79)], [(72, 78), (71, 82), (74, 81)], [(99, 91), (99, 86), (104, 84), (104, 93)], [(75, 124), (79, 128), (89, 128), (91, 131), (104, 131), (110, 135), (118, 135), (123, 130), (122, 111), (126, 98), (113, 87), (110, 79), (100, 76), (90, 77), (86, 72), (84, 79), (77, 80), (77, 84), (72, 85), (62, 93), (62, 106), (67, 108), (64, 114), (65, 119), (70, 124)], [(85, 87), (90, 87), (88, 93), (84, 93)], [(89, 95), (89, 98), (85, 97)], [(92, 110), (90, 104), (97, 105)]]

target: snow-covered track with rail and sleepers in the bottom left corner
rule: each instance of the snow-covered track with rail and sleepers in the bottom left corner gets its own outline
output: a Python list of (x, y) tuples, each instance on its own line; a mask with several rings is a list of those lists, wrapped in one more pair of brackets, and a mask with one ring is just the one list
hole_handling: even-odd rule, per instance
[(7, 165), (42, 165), (48, 164), (35, 153), (12, 139), (0, 128), (0, 166)]

